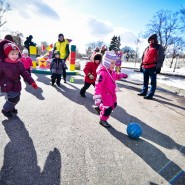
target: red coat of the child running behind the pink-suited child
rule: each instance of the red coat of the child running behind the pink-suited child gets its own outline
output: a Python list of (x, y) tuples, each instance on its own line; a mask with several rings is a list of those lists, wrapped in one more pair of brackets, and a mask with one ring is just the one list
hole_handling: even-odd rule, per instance
[[(89, 61), (86, 63), (84, 70), (83, 70), (85, 73), (84, 82), (91, 83), (91, 84), (95, 83), (96, 77), (97, 77), (96, 69), (97, 69), (98, 65), (99, 64), (97, 64), (93, 61)], [(89, 74), (92, 74), (94, 76), (94, 79), (90, 79)]]

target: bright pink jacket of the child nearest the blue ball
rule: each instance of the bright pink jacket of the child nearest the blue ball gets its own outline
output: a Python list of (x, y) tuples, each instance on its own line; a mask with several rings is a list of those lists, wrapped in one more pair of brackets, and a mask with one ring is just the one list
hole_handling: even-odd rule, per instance
[(110, 71), (103, 65), (99, 65), (94, 95), (101, 95), (104, 106), (110, 107), (117, 102), (115, 81), (124, 78), (124, 76), (124, 73), (117, 74), (115, 71)]

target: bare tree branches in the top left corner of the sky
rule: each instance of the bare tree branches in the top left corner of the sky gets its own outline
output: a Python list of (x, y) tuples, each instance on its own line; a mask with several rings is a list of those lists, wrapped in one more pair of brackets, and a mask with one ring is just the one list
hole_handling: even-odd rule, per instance
[(4, 0), (0, 0), (0, 27), (7, 23), (4, 15), (10, 10), (10, 4), (5, 3)]

